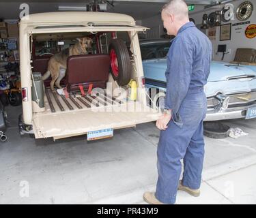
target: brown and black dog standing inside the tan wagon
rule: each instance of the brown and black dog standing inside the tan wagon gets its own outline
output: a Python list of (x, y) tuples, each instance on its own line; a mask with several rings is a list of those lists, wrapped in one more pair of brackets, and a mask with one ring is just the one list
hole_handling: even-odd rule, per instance
[[(70, 48), (66, 48), (61, 52), (53, 55), (48, 61), (48, 70), (42, 77), (46, 80), (51, 75), (51, 90), (54, 91), (54, 84), (61, 89), (60, 82), (66, 74), (67, 60), (71, 55), (87, 55), (88, 50), (91, 49), (92, 40), (90, 37), (83, 37), (76, 39), (78, 42)], [(56, 82), (55, 82), (56, 81)]]

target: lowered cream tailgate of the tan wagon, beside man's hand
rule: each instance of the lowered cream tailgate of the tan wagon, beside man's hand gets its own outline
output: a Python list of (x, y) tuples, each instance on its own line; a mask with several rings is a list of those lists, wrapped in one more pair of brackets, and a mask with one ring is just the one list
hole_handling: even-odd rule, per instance
[[(156, 121), (160, 116), (160, 112), (139, 102), (135, 102), (134, 106), (142, 110), (127, 111), (128, 104), (124, 104), (118, 108), (110, 108), (110, 112), (89, 109), (34, 114), (33, 130), (35, 138), (53, 137), (58, 139), (79, 136), (86, 134), (88, 131), (100, 129), (121, 129), (139, 123)], [(106, 110), (106, 108), (104, 109)]]

